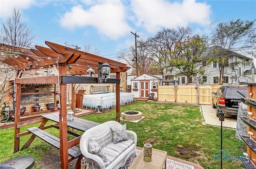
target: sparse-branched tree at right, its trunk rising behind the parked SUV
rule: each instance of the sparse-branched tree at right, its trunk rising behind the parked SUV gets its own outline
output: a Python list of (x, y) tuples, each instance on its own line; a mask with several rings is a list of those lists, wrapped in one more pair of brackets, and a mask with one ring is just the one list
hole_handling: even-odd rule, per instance
[[(223, 83), (224, 67), (228, 65), (229, 57), (232, 57), (234, 53), (238, 51), (244, 51), (247, 53), (253, 53), (256, 49), (256, 31), (255, 21), (242, 21), (242, 20), (231, 20), (217, 24), (214, 31), (212, 32), (212, 43), (222, 48), (218, 52), (220, 57), (216, 58), (219, 63), (219, 84)], [(238, 64), (238, 63), (234, 63)]]

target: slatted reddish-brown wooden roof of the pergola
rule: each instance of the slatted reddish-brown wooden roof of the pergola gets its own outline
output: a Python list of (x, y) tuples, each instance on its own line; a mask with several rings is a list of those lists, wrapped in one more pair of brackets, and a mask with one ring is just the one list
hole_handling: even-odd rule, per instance
[(50, 65), (66, 65), (67, 75), (85, 75), (86, 70), (90, 67), (98, 73), (98, 67), (105, 61), (110, 65), (110, 72), (125, 72), (130, 67), (126, 64), (106, 59), (91, 53), (72, 49), (70, 47), (58, 45), (49, 41), (45, 42), (48, 47), (35, 46), (36, 49), (29, 51), (17, 48), (9, 50), (10, 46), (0, 44), (1, 55), (0, 60), (16, 71), (47, 69)]

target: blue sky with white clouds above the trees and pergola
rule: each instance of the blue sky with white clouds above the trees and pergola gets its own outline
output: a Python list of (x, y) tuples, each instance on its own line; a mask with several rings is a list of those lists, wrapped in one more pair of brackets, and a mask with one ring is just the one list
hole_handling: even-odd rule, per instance
[(45, 41), (87, 45), (116, 61), (135, 45), (135, 32), (138, 41), (162, 28), (189, 26), (194, 35), (210, 35), (212, 22), (256, 19), (256, 0), (0, 0), (1, 31), (14, 8), (35, 35), (29, 48), (47, 47)]

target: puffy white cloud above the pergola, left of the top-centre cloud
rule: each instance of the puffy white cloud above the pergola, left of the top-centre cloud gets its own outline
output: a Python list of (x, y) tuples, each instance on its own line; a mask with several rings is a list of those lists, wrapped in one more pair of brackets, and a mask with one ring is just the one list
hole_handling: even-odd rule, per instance
[(126, 9), (119, 1), (104, 1), (87, 10), (81, 5), (74, 6), (60, 19), (60, 24), (71, 30), (76, 27), (93, 26), (98, 33), (112, 39), (131, 30), (126, 23)]

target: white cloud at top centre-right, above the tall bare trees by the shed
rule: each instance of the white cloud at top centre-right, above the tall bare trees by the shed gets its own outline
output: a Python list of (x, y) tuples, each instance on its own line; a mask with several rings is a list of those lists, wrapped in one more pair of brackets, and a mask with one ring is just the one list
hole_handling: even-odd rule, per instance
[(210, 23), (210, 6), (195, 0), (182, 2), (132, 1), (131, 8), (136, 15), (136, 25), (146, 28), (148, 31), (157, 29), (157, 27), (176, 28), (177, 26), (188, 26), (189, 23), (200, 25)]

